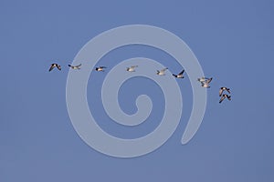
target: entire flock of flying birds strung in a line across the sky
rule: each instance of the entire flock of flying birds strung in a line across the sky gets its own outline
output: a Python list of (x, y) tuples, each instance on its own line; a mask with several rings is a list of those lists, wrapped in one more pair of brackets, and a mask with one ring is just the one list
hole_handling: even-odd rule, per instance
[[(68, 65), (68, 67), (70, 67), (71, 69), (80, 69), (80, 66), (81, 64), (79, 64), (78, 66), (71, 66), (71, 65)], [(58, 68), (58, 70), (61, 70), (61, 66), (59, 66), (57, 63), (53, 63), (51, 64), (51, 66), (49, 67), (49, 72), (52, 71), (55, 67)], [(130, 66), (130, 67), (127, 67), (126, 68), (126, 71), (128, 72), (135, 72), (135, 69), (136, 67), (138, 66)], [(107, 68), (106, 66), (99, 66), (99, 67), (96, 67), (95, 68), (95, 71), (101, 71), (101, 72), (104, 72), (105, 68)], [(162, 70), (157, 70), (156, 74), (158, 76), (165, 76), (165, 71), (167, 70), (168, 68), (165, 67), (163, 68)], [(174, 77), (176, 78), (184, 78), (184, 70), (181, 71), (178, 75), (175, 75), (173, 74)], [(207, 77), (200, 77), (197, 79), (198, 82), (201, 83), (201, 86), (202, 87), (205, 87), (205, 88), (209, 88), (209, 83), (212, 81), (213, 77), (210, 77), (210, 78), (207, 78)], [(227, 94), (224, 94), (224, 92), (227, 92), (229, 95)], [(220, 100), (219, 100), (219, 103), (222, 103), (224, 99), (228, 99), (228, 100), (231, 100), (231, 96), (230, 96), (230, 89), (226, 86), (222, 86), (220, 87), (219, 89), (219, 96), (220, 96)]]

